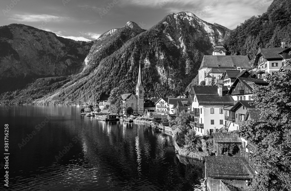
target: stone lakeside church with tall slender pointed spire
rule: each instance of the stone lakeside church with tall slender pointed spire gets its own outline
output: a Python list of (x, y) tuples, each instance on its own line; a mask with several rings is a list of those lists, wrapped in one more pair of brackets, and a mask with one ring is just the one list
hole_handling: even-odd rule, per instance
[(141, 79), (141, 64), (139, 64), (139, 77), (136, 83), (136, 94), (125, 93), (121, 95), (123, 100), (123, 113), (126, 113), (128, 107), (132, 107), (133, 113), (143, 114), (143, 83)]

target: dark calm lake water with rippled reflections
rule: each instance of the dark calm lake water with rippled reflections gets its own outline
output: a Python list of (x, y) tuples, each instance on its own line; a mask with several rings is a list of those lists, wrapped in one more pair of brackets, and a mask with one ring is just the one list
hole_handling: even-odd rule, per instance
[(1, 140), (9, 124), (8, 190), (201, 190), (204, 165), (178, 157), (171, 136), (80, 116), (81, 108), (0, 106)]

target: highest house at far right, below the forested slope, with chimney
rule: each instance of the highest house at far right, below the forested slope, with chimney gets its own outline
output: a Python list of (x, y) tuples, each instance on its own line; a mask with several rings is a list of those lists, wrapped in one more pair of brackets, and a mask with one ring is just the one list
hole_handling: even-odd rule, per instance
[(258, 67), (258, 77), (262, 78), (265, 72), (271, 75), (278, 72), (281, 66), (285, 66), (286, 60), (291, 58), (290, 51), (291, 48), (286, 47), (285, 42), (281, 43), (281, 47), (259, 49), (254, 63)]

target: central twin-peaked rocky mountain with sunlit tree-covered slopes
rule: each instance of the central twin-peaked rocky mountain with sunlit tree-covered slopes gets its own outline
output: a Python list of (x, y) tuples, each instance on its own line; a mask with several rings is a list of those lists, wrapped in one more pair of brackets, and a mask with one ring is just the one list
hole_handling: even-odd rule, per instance
[[(148, 30), (128, 22), (95, 40), (81, 73), (50, 82), (42, 79), (47, 82), (47, 89), (53, 91), (38, 95), (34, 103), (92, 103), (105, 99), (114, 87), (123, 93), (135, 92), (139, 63), (145, 97), (179, 95), (197, 75), (203, 55), (211, 54), (213, 45), (229, 32), (226, 27), (207, 23), (190, 12), (171, 13)], [(0, 100), (7, 102), (9, 97), (21, 103), (33, 101), (25, 100), (24, 95), (33, 94), (32, 87), (43, 82), (39, 80), (26, 89), (6, 93)]]

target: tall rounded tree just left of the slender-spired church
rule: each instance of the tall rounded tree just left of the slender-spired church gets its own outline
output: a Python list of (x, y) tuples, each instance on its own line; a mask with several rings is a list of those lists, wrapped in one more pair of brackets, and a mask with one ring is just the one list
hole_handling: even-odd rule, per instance
[(119, 114), (122, 111), (123, 102), (119, 88), (116, 87), (111, 90), (108, 102), (110, 104), (109, 111), (111, 113)]

